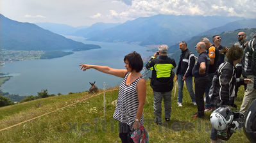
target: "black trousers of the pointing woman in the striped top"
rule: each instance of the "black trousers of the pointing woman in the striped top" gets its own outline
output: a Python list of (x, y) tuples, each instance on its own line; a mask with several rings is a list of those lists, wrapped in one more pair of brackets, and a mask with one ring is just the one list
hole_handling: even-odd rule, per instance
[(131, 138), (133, 131), (131, 129), (132, 126), (119, 122), (119, 137), (122, 140), (122, 143), (133, 143)]

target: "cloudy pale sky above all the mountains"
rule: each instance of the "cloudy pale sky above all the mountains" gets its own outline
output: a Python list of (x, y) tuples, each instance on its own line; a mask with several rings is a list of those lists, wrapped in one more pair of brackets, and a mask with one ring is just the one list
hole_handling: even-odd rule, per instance
[(220, 15), (256, 19), (256, 0), (1, 0), (0, 13), (19, 22), (90, 26), (139, 17)]

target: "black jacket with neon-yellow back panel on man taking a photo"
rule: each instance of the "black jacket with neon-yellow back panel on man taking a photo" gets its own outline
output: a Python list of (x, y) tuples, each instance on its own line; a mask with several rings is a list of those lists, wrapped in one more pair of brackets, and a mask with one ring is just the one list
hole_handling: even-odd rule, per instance
[(146, 64), (146, 68), (153, 70), (150, 82), (153, 91), (168, 92), (173, 89), (173, 77), (171, 73), (175, 67), (175, 60), (167, 56), (151, 57)]

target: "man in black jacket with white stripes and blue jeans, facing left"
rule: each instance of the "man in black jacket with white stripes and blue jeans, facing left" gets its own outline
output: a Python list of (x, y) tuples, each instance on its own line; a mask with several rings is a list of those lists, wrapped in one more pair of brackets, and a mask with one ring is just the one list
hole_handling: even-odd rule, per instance
[(183, 98), (183, 84), (186, 82), (187, 91), (189, 91), (189, 95), (191, 96), (192, 103), (196, 105), (196, 101), (194, 99), (194, 91), (193, 91), (193, 82), (192, 82), (192, 69), (194, 67), (194, 53), (192, 53), (189, 49), (187, 49), (187, 43), (185, 41), (181, 41), (178, 45), (182, 54), (180, 54), (180, 61), (178, 63), (178, 68), (176, 71), (176, 80), (178, 81), (178, 107), (182, 107), (182, 98)]

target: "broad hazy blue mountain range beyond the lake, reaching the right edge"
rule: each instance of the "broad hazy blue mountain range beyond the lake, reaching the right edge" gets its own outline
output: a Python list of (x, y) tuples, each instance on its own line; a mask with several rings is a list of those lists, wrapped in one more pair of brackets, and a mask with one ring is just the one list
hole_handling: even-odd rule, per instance
[[(73, 36), (87, 40), (132, 43), (138, 45), (173, 45), (195, 35), (217, 34), (239, 28), (252, 28), (256, 19), (221, 16), (154, 15), (128, 20), (123, 24), (96, 23), (79, 29)], [(60, 33), (61, 34), (61, 33)]]

